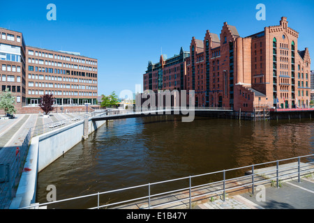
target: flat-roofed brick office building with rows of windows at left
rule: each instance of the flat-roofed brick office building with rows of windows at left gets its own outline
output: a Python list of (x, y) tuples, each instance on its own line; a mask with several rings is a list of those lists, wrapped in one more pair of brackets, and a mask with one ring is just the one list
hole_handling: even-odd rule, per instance
[[(40, 96), (53, 94), (55, 105), (96, 105), (98, 61), (74, 52), (25, 45), (22, 33), (0, 28), (0, 85), (15, 94), (17, 113), (38, 113)], [(84, 110), (84, 109), (83, 109)]]

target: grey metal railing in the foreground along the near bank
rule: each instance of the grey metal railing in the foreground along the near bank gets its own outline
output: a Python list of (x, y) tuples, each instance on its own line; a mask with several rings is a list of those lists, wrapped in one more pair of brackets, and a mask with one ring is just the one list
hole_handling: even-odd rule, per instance
[[(238, 167), (238, 168), (233, 168), (233, 169), (227, 169), (227, 170), (223, 170), (223, 171), (214, 171), (214, 172), (211, 172), (211, 173), (207, 173), (207, 174), (199, 174), (199, 175), (195, 175), (195, 176), (188, 176), (188, 177), (182, 177), (182, 178), (176, 178), (176, 179), (172, 179), (172, 180), (163, 180), (163, 181), (160, 181), (160, 182), (156, 182), (156, 183), (148, 183), (148, 184), (144, 184), (144, 185), (137, 185), (137, 186), (133, 186), (133, 187), (126, 187), (126, 188), (121, 188), (121, 189), (118, 189), (118, 190), (111, 190), (111, 191), (107, 191), (107, 192), (98, 192), (98, 193), (95, 193), (95, 194), (89, 194), (89, 195), (84, 195), (84, 196), (80, 196), (80, 197), (73, 197), (73, 198), (70, 198), (70, 199), (63, 199), (63, 200), (59, 200), (59, 201), (52, 201), (52, 202), (47, 202), (47, 203), (38, 203), (36, 205), (33, 205), (33, 206), (27, 206), (27, 207), (24, 207), (24, 208), (21, 208), (21, 209), (27, 209), (27, 208), (35, 208), (37, 206), (47, 206), (47, 205), (51, 205), (53, 203), (61, 203), (61, 202), (65, 202), (65, 201), (71, 201), (71, 200), (75, 200), (75, 199), (82, 199), (82, 198), (85, 198), (85, 197), (94, 197), (94, 196), (98, 196), (98, 206), (94, 207), (94, 208), (105, 208), (107, 206), (117, 206), (118, 204), (121, 204), (121, 203), (128, 203), (130, 201), (136, 201), (136, 200), (142, 200), (142, 199), (149, 199), (149, 206), (148, 208), (156, 208), (158, 206), (163, 206), (163, 205), (166, 205), (166, 204), (170, 204), (170, 203), (176, 203), (176, 202), (179, 202), (179, 201), (185, 201), (185, 200), (190, 200), (190, 208), (191, 208), (191, 201), (192, 199), (195, 199), (197, 197), (200, 197), (200, 196), (204, 196), (204, 195), (208, 195), (208, 194), (218, 194), (220, 192), (223, 192), (223, 199), (225, 200), (225, 193), (229, 190), (232, 190), (232, 189), (235, 189), (235, 188), (239, 188), (239, 187), (244, 187), (244, 186), (252, 186), (252, 192), (254, 193), (254, 187), (257, 183), (261, 183), (261, 182), (264, 182), (264, 181), (269, 181), (269, 180), (273, 180), (273, 179), (276, 179), (277, 181), (277, 187), (279, 185), (279, 178), (281, 178), (282, 176), (292, 176), (293, 174), (297, 174), (297, 177), (298, 177), (298, 180), (300, 182), (300, 176), (301, 176), (301, 172), (303, 171), (306, 171), (306, 170), (301, 170), (301, 158), (305, 158), (305, 157), (314, 157), (314, 154), (311, 154), (311, 155), (303, 155), (303, 156), (299, 156), (299, 157), (293, 157), (293, 158), (288, 158), (288, 159), (283, 159), (283, 160), (277, 160), (277, 161), (273, 161), (273, 162), (264, 162), (264, 163), (260, 163), (260, 164), (253, 164), (253, 165), (250, 165), (250, 166), (246, 166), (246, 167)], [(295, 172), (292, 172), (292, 174), (284, 174), (284, 175), (280, 175), (280, 171), (282, 171), (283, 169), (287, 169), (287, 167), (281, 167), (279, 168), (279, 162), (283, 162), (283, 161), (287, 161), (287, 160), (298, 160), (298, 164), (297, 165), (294, 165), (293, 167), (298, 167), (297, 171)], [(266, 178), (264, 180), (258, 180), (258, 181), (255, 181), (255, 176), (258, 176), (254, 169), (257, 167), (257, 166), (260, 166), (260, 165), (264, 165), (264, 164), (273, 164), (273, 163), (276, 163), (276, 169), (272, 170), (272, 171), (276, 171), (276, 176), (272, 177), (272, 178)], [(313, 162), (304, 162), (304, 166), (302, 168), (304, 168), (306, 166), (306, 164), (312, 164)], [(310, 165), (307, 165), (307, 166), (310, 166)], [(229, 172), (229, 171), (234, 171), (234, 170), (239, 170), (239, 169), (248, 169), (248, 168), (251, 168), (252, 169), (252, 174), (251, 175), (248, 175), (246, 177), (251, 177), (252, 178), (252, 181), (251, 183), (246, 183), (245, 185), (238, 185), (236, 187), (229, 187), (229, 188), (226, 188), (225, 187), (225, 184), (226, 184), (226, 181), (229, 181), (230, 180), (237, 180), (237, 179), (241, 179), (241, 178), (244, 178), (244, 176), (240, 176), (240, 177), (235, 177), (235, 178), (228, 178), (226, 179), (225, 178), (225, 174), (226, 172)], [(296, 169), (296, 168), (293, 168), (293, 169)], [(311, 167), (311, 170), (314, 169), (313, 165)], [(314, 171), (314, 170), (313, 170)], [(208, 175), (211, 175), (211, 174), (221, 174), (223, 173), (223, 180), (218, 180), (216, 182), (211, 182), (211, 183), (207, 183), (207, 184), (202, 184), (202, 185), (195, 185), (192, 187), (191, 185), (191, 180), (192, 178), (196, 178), (196, 177), (200, 177), (200, 176), (208, 176)], [(260, 173), (258, 173), (260, 174)], [(190, 185), (189, 187), (184, 187), (184, 188), (181, 188), (181, 189), (177, 189), (177, 190), (172, 190), (172, 191), (168, 191), (168, 192), (161, 192), (161, 193), (158, 193), (158, 194), (151, 194), (150, 192), (150, 187), (151, 185), (158, 185), (158, 184), (162, 184), (162, 183), (170, 183), (170, 182), (174, 182), (174, 181), (178, 181), (178, 180), (186, 180), (186, 179), (189, 179), (190, 181)], [(205, 194), (202, 194), (202, 195), (197, 195), (197, 196), (192, 196), (191, 195), (191, 190), (192, 188), (197, 188), (197, 187), (201, 187), (201, 186), (204, 186), (204, 185), (211, 185), (211, 184), (218, 184), (218, 183), (223, 183), (223, 190), (218, 190), (218, 191), (214, 191), (214, 192), (209, 192), (209, 193), (205, 193)], [(228, 182), (227, 182), (228, 183)], [(149, 187), (149, 195), (148, 196), (145, 196), (145, 197), (139, 197), (139, 198), (136, 198), (136, 199), (128, 199), (126, 201), (119, 201), (119, 202), (116, 202), (116, 203), (110, 203), (110, 204), (106, 204), (104, 206), (99, 206), (99, 195), (100, 194), (110, 194), (110, 193), (113, 193), (113, 192), (121, 192), (121, 191), (126, 191), (126, 190), (131, 190), (131, 189), (135, 189), (135, 188), (140, 188), (140, 187)], [(160, 196), (160, 195), (164, 195), (164, 194), (171, 194), (173, 192), (179, 192), (179, 191), (187, 191), (189, 190), (189, 197), (187, 198), (184, 198), (184, 199), (178, 199), (176, 201), (171, 201), (171, 202), (167, 202), (167, 203), (162, 203), (162, 204), (158, 204), (156, 206), (151, 206), (151, 197), (157, 197), (157, 196)], [(93, 209), (93, 208), (91, 208)]]

